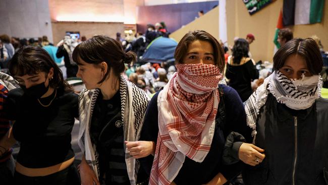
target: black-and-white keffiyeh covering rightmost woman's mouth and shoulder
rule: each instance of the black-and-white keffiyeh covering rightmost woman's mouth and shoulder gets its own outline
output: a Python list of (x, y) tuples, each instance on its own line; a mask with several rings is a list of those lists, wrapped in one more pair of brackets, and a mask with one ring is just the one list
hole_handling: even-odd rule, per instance
[(322, 78), (320, 75), (302, 76), (301, 79), (291, 80), (276, 70), (264, 79), (256, 91), (244, 102), (247, 125), (253, 129), (252, 136), (256, 135), (256, 120), (260, 108), (265, 104), (271, 93), (279, 103), (285, 104), (294, 110), (304, 110), (313, 105), (321, 96)]

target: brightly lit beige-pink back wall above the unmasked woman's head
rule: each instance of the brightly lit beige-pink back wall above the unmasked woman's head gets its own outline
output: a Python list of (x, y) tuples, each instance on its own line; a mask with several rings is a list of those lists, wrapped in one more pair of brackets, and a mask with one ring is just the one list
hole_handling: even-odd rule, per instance
[(115, 38), (117, 32), (124, 37), (125, 29), (136, 29), (136, 7), (144, 3), (143, 0), (48, 2), (54, 43), (58, 43), (66, 31), (80, 31), (81, 36), (85, 35), (87, 38), (95, 34)]

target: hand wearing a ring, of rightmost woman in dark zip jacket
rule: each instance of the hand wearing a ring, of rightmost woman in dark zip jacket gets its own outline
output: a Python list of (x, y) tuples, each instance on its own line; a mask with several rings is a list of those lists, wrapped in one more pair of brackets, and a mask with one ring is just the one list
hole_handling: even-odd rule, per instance
[(265, 158), (264, 150), (253, 144), (243, 143), (238, 151), (239, 159), (251, 166), (256, 166)]

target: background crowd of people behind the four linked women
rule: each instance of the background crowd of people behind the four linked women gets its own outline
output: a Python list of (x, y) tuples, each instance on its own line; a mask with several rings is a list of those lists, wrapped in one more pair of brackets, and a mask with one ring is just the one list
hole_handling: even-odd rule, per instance
[[(202, 11), (199, 11), (198, 13), (201, 14)], [(116, 40), (122, 44), (125, 52), (132, 51), (137, 54), (137, 61), (133, 64), (126, 65), (124, 76), (126, 79), (131, 79), (149, 95), (158, 91), (160, 87), (165, 85), (165, 83), (170, 79), (170, 73), (172, 74), (175, 72), (175, 67), (172, 66), (172, 63), (167, 64), (165, 62), (162, 64), (145, 63), (142, 60), (142, 56), (149, 43), (155, 38), (160, 36), (169, 37), (169, 35), (170, 32), (164, 22), (156, 23), (155, 25), (148, 24), (144, 34), (142, 32), (134, 33), (132, 30), (128, 30), (125, 37), (122, 37), (120, 32), (117, 32), (116, 34)], [(285, 28), (279, 31), (278, 39), (275, 41), (280, 47), (283, 47), (289, 40), (293, 39), (293, 37), (293, 32), (289, 28)], [(311, 37), (319, 45), (320, 52), (323, 57), (323, 84), (327, 87), (328, 80), (326, 77), (327, 75), (325, 74), (328, 73), (328, 69), (326, 67), (328, 66), (328, 54), (323, 50), (320, 38), (316, 35)], [(34, 38), (10, 38), (6, 34), (0, 35), (0, 69), (4, 72), (8, 72), (8, 62), (13, 57), (15, 52), (26, 45), (32, 45), (46, 50), (52, 60), (54, 60), (57, 64), (64, 64), (66, 68), (66, 74), (64, 74), (64, 76), (66, 78), (76, 77), (78, 66), (72, 60), (72, 53), (74, 48), (85, 40), (85, 36), (77, 39), (66, 35), (58, 44), (53, 45), (53, 43), (48, 41), (48, 38), (45, 35), (39, 37), (37, 40)], [(239, 92), (241, 97), (244, 97), (242, 98), (243, 101), (246, 100), (251, 92), (254, 91), (257, 86), (261, 85), (264, 78), (272, 72), (272, 65), (270, 62), (262, 62), (261, 60), (254, 61), (252, 59), (249, 45), (254, 40), (255, 36), (252, 33), (247, 34), (245, 39), (235, 37), (234, 44), (229, 45), (229, 47), (228, 43), (223, 43), (219, 40), (219, 43), (224, 50), (225, 61), (227, 64), (225, 79), (229, 85), (234, 87)], [(249, 61), (251, 61), (251, 63), (249, 63)], [(237, 70), (238, 68), (240, 68), (240, 70)], [(164, 76), (167, 77), (164, 78)], [(250, 82), (250, 84), (248, 82)], [(247, 86), (247, 88), (243, 86)]]

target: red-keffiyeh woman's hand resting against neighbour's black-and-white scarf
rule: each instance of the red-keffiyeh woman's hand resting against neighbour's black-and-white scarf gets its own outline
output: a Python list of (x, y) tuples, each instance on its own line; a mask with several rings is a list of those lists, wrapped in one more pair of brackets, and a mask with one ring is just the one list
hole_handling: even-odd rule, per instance
[(155, 143), (147, 141), (137, 141), (137, 142), (124, 142), (126, 148), (130, 152), (130, 155), (135, 159), (147, 157), (150, 154), (155, 153)]

